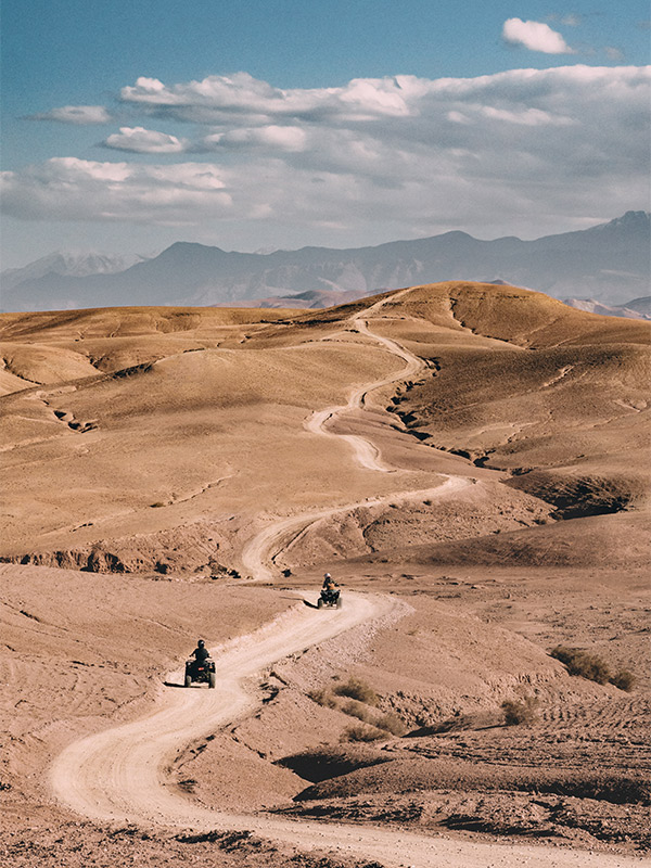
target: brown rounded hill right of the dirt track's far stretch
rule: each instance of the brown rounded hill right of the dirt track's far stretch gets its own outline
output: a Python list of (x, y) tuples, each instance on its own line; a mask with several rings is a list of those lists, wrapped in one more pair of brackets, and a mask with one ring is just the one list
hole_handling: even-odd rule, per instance
[[(385, 332), (411, 336), (409, 346), (437, 368), (393, 399), (394, 412), (429, 435), (426, 443), (514, 472), (512, 484), (551, 498), (567, 515), (646, 497), (649, 323), (511, 286), (454, 283), (410, 291), (395, 315)], [(419, 330), (410, 317), (431, 328)]]

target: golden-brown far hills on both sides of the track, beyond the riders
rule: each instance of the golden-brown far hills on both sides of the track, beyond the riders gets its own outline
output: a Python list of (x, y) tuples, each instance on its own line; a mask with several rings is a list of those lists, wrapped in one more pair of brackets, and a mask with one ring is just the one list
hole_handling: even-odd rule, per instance
[[(429, 365), (414, 381), (370, 393), (368, 409), (352, 417), (396, 462), (391, 473), (360, 468), (343, 438), (305, 430), (312, 411), (401, 370), (359, 322)], [(476, 521), (477, 495), (463, 494), (458, 510), (468, 521), (449, 535), (454, 515), (446, 513), (443, 538), (460, 545), (464, 528), (473, 539), (510, 532), (497, 518), (507, 503), (513, 522), (533, 520), (516, 488), (542, 498), (557, 519), (639, 510), (649, 489), (650, 333), (649, 323), (586, 314), (539, 293), (461, 282), (301, 315), (115, 308), (2, 316), (3, 551), (175, 528), (187, 542), (205, 536), (197, 523), (207, 521), (219, 525), (215, 550), (232, 559), (256, 515), (344, 509), (431, 487), (433, 473), (483, 481), (490, 468), (501, 473), (481, 489)], [(443, 509), (429, 518), (417, 510), (378, 545), (396, 552), (422, 540), (420, 525), (438, 526)], [(385, 518), (381, 524), (393, 526)], [(340, 533), (333, 528), (330, 536)], [(537, 529), (527, 533), (536, 538)], [(177, 542), (165, 537), (173, 549)], [(306, 563), (305, 552), (296, 557)]]

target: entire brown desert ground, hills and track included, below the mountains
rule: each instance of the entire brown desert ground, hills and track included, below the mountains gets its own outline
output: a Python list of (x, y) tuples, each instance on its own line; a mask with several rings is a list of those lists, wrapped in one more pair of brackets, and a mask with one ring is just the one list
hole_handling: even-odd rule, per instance
[(462, 282), (2, 315), (0, 856), (648, 853), (650, 335)]

